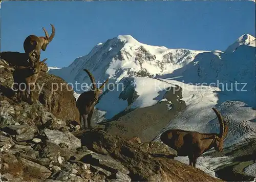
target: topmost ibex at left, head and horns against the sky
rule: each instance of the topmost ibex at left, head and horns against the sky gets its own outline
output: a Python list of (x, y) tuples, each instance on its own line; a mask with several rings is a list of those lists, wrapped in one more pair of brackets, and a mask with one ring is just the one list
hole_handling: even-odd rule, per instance
[(42, 30), (45, 31), (45, 34), (46, 34), (45, 37), (37, 37), (36, 35), (29, 35), (23, 43), (25, 53), (28, 54), (28, 58), (31, 66), (33, 66), (36, 60), (40, 59), (40, 51), (46, 50), (47, 45), (52, 41), (55, 35), (55, 28), (52, 24), (50, 25), (52, 26), (52, 34), (50, 37), (46, 29), (43, 27)]

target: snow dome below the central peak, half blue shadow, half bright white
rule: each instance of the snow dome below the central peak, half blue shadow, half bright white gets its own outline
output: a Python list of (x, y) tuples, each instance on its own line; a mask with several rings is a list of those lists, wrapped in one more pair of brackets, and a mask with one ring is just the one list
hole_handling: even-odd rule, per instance
[[(113, 89), (106, 90), (96, 108), (106, 111), (104, 117), (111, 119), (119, 112), (129, 108), (155, 105), (163, 99), (166, 89), (170, 86), (173, 85), (153, 78), (123, 78)], [(134, 97), (133, 93), (138, 97), (129, 105), (127, 98)], [(126, 99), (122, 99), (122, 97)]]

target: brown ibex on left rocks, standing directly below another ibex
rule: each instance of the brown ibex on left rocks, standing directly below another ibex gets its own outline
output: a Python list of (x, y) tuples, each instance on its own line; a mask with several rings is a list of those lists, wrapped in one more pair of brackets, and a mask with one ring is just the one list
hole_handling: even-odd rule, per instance
[(22, 101), (22, 97), (24, 95), (24, 90), (25, 90), (26, 100), (30, 104), (33, 103), (34, 101), (33, 92), (35, 89), (35, 82), (46, 60), (47, 58), (42, 61), (37, 60), (34, 67), (14, 66), (13, 80), (14, 80), (14, 88), (16, 88), (16, 91), (17, 91), (18, 102)]

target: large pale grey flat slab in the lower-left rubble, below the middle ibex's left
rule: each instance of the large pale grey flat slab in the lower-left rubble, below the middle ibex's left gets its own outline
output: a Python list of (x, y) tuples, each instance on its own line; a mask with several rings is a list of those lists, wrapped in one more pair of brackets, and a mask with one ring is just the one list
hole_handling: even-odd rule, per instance
[(52, 143), (57, 145), (60, 143), (65, 143), (71, 150), (75, 150), (76, 148), (81, 147), (81, 141), (69, 131), (61, 132), (56, 129), (45, 129), (44, 132), (49, 141)]

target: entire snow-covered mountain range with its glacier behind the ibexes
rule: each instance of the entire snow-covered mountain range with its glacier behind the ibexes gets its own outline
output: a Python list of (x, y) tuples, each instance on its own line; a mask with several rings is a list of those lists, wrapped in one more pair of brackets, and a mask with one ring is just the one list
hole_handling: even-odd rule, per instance
[[(49, 73), (73, 84), (90, 84), (83, 69), (90, 70), (96, 81), (110, 78), (111, 86), (107, 86), (96, 105), (96, 122), (163, 101), (170, 110), (172, 102), (164, 95), (170, 87), (178, 85), (186, 108), (162, 131), (180, 128), (218, 132), (218, 120), (211, 109), (217, 107), (229, 118), (225, 147), (255, 137), (255, 37), (251, 35), (242, 35), (226, 51), (167, 49), (140, 43), (130, 35), (117, 36), (97, 44), (70, 66)], [(79, 86), (74, 90), (83, 92)], [(159, 140), (159, 135), (155, 140)], [(179, 160), (188, 163), (187, 157)], [(215, 175), (212, 170), (220, 161), (228, 163), (230, 158), (201, 158), (198, 164)], [(213, 163), (216, 165), (212, 166)]]

